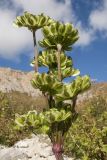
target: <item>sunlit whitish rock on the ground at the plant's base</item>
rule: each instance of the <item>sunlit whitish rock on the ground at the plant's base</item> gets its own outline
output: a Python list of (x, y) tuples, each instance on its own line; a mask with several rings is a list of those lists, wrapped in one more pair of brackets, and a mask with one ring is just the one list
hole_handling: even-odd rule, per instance
[[(32, 135), (17, 142), (13, 147), (0, 147), (0, 160), (56, 160), (51, 142), (45, 135)], [(64, 156), (64, 160), (73, 160)]]

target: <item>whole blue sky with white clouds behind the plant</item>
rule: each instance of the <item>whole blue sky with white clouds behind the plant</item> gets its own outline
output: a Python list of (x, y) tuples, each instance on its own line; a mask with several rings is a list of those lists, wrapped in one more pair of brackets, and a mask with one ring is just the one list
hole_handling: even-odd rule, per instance
[[(32, 34), (13, 26), (24, 11), (73, 23), (80, 38), (67, 54), (74, 67), (97, 82), (107, 81), (107, 0), (0, 0), (0, 67), (33, 70)], [(40, 31), (37, 37), (42, 38)]]

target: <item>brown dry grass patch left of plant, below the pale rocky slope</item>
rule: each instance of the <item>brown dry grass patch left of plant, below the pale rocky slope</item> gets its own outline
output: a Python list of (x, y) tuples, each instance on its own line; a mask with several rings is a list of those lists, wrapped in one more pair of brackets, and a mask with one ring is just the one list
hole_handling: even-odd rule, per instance
[(11, 92), (6, 93), (11, 107), (16, 113), (26, 113), (29, 110), (37, 110), (40, 112), (47, 106), (46, 98), (43, 96), (31, 97), (27, 93)]

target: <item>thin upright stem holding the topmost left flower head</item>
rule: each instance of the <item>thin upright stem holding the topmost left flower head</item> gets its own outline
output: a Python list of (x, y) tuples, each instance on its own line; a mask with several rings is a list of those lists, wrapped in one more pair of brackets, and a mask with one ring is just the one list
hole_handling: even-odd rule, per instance
[(36, 43), (35, 30), (33, 30), (33, 42), (34, 42), (35, 72), (38, 72), (38, 49), (37, 49), (37, 43)]

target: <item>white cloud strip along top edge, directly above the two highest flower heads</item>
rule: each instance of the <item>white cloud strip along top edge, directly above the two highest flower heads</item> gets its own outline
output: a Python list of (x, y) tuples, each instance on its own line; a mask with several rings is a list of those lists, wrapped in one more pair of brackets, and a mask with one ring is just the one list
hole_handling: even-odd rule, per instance
[(65, 0), (65, 3), (58, 3), (55, 0), (13, 0), (16, 4), (20, 5), (24, 11), (40, 14), (45, 13), (57, 20), (64, 21), (72, 19), (71, 0)]

